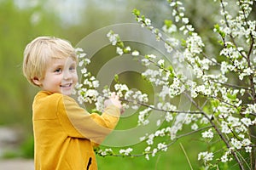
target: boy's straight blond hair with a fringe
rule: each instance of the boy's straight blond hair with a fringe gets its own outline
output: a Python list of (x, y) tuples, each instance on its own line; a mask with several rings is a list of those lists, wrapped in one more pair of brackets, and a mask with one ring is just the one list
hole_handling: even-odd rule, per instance
[(23, 59), (23, 74), (32, 84), (34, 78), (44, 79), (51, 59), (71, 57), (77, 62), (75, 50), (70, 42), (57, 37), (37, 37), (26, 45)]

